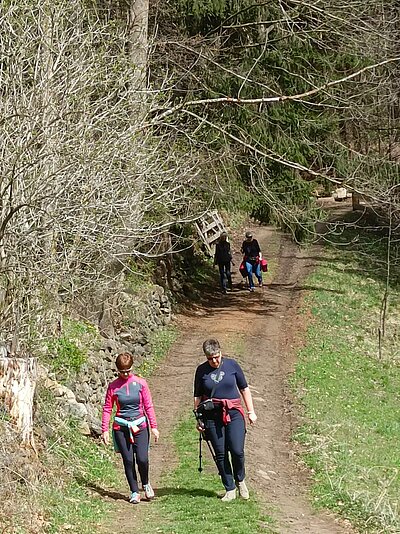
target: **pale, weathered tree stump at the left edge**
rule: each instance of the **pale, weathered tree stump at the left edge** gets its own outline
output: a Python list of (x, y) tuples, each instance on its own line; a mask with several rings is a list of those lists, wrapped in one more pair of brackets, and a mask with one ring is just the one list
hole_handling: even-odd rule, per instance
[(33, 396), (36, 381), (36, 358), (0, 357), (0, 401), (5, 405), (11, 423), (21, 432), (22, 443), (33, 448)]

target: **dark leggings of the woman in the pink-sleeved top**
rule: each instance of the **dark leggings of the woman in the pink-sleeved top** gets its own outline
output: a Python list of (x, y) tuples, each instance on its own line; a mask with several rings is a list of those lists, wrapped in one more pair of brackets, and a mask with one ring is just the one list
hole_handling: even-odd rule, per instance
[(114, 430), (115, 441), (124, 462), (125, 475), (131, 491), (139, 491), (135, 460), (142, 485), (149, 483), (149, 429), (143, 428), (135, 434), (135, 443), (130, 442), (129, 430), (122, 426)]

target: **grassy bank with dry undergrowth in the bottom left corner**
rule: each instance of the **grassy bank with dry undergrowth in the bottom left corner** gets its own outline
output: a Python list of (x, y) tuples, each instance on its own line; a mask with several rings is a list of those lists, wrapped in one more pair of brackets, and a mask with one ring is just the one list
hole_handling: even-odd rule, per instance
[(43, 388), (36, 411), (38, 455), (2, 429), (7, 448), (0, 447), (0, 524), (13, 534), (92, 533), (110, 506), (102, 498), (106, 488), (118, 484), (113, 453), (80, 434), (76, 421), (59, 417)]

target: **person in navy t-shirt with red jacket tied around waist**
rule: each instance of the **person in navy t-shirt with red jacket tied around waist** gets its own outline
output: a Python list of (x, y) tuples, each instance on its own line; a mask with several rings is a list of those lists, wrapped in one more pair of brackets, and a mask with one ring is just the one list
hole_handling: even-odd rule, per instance
[(240, 365), (234, 359), (222, 356), (218, 340), (204, 341), (203, 352), (207, 361), (197, 367), (194, 378), (197, 430), (204, 432), (205, 439), (214, 449), (215, 462), (225, 487), (222, 501), (236, 499), (236, 487), (240, 497), (248, 499), (244, 461), (246, 419), (250, 424), (257, 421), (251, 392)]

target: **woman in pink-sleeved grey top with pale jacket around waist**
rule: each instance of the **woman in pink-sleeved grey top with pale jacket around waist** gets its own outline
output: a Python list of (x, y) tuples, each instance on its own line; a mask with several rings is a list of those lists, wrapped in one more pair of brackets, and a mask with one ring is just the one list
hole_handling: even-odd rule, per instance
[(146, 380), (133, 374), (133, 356), (124, 352), (117, 356), (118, 378), (108, 385), (101, 422), (102, 440), (110, 443), (110, 418), (113, 406), (116, 414), (112, 426), (114, 450), (121, 453), (131, 495), (129, 502), (139, 504), (140, 492), (136, 473), (138, 467), (142, 489), (147, 500), (154, 498), (149, 482), (150, 432), (157, 443), (156, 415)]

